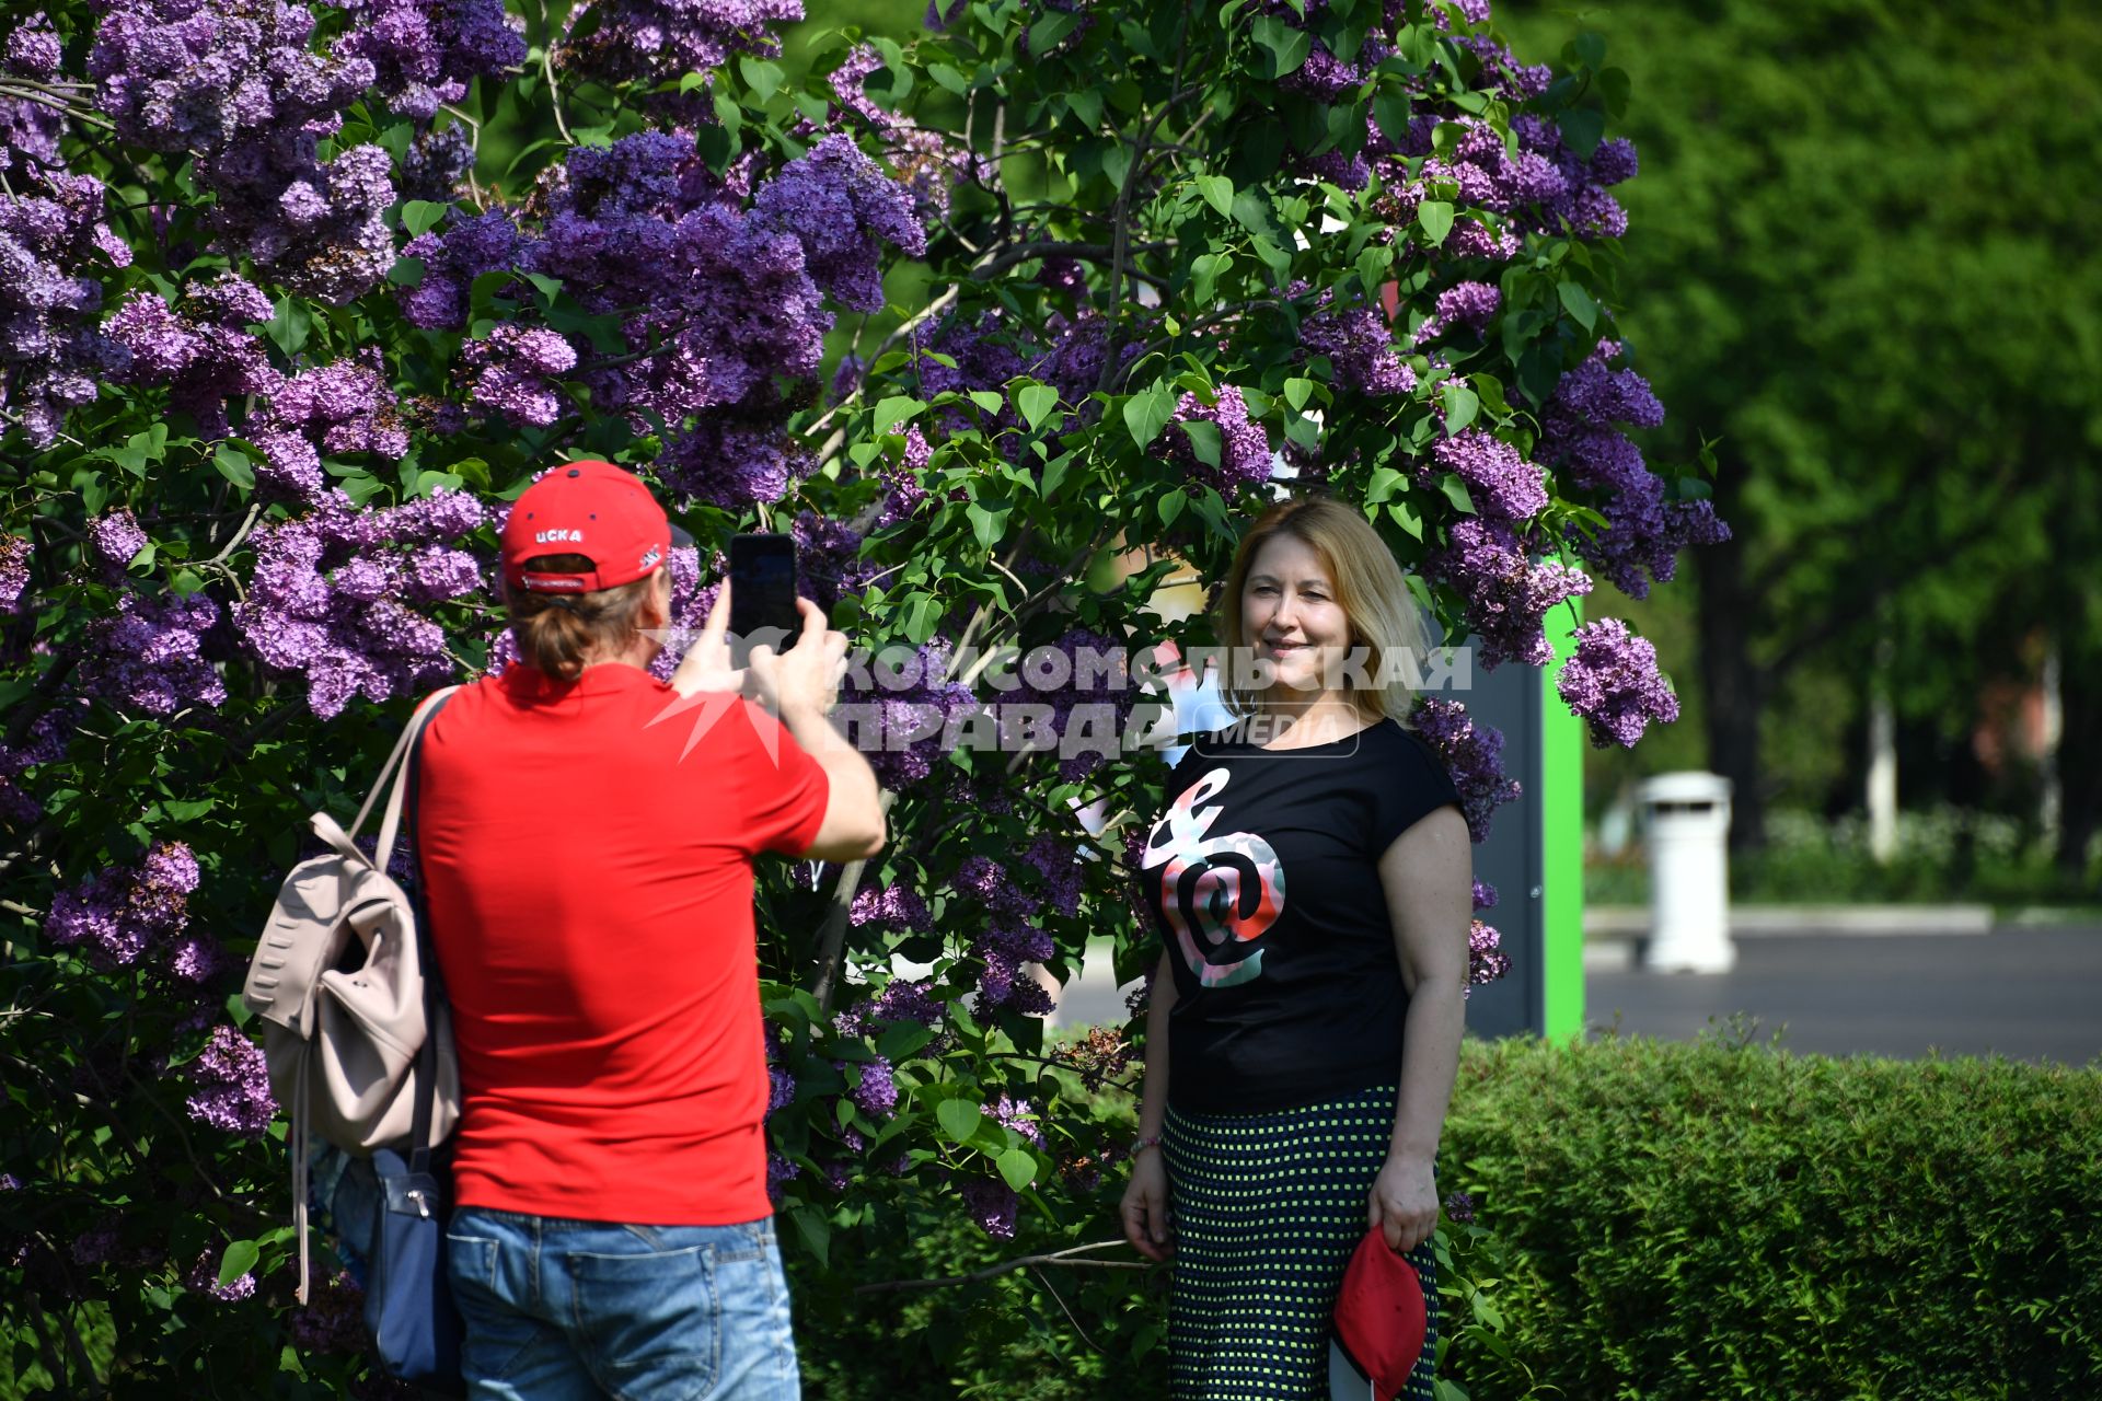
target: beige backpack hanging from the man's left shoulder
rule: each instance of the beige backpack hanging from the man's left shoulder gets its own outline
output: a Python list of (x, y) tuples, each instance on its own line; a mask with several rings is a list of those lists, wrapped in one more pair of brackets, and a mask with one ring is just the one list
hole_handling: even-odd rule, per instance
[[(423, 727), (454, 691), (435, 693), (401, 731), (349, 832), (328, 813), (313, 815), (313, 834), (332, 851), (294, 865), (277, 888), (277, 907), (242, 987), (248, 1010), (263, 1021), (271, 1092), (290, 1107), (298, 1302), (307, 1302), (307, 1134), (355, 1155), (404, 1145), (427, 1036), (437, 1052), (431, 1143), (444, 1141), (460, 1117), (460, 1067), (444, 1000), (433, 1000), (437, 1025), (425, 1025), (423, 983), (427, 973), (437, 977), (437, 966), (429, 922), (420, 918), (420, 872), (414, 899), (387, 874), (404, 798), (414, 832)], [(368, 857), (353, 838), (383, 788), (387, 813), (376, 855)], [(414, 836), (410, 859), (416, 859)]]

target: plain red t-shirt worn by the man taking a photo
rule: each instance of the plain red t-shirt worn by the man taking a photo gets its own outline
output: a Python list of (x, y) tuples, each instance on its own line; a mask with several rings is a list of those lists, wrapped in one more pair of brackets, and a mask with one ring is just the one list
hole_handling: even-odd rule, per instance
[(750, 702), (652, 725), (675, 702), (635, 666), (570, 685), (511, 666), (425, 733), (462, 1206), (662, 1227), (771, 1212), (753, 857), (807, 849), (828, 783)]

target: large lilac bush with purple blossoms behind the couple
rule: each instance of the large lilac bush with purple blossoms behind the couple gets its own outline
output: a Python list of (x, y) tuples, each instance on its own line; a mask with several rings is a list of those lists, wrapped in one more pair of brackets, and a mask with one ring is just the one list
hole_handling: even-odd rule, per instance
[[(1045, 1012), (1091, 941), (1127, 977), (1152, 947), (1131, 828), (1160, 769), (1122, 744), (1148, 697), (1120, 651), (1211, 639), (1150, 586), (1219, 578), (1238, 519), (1318, 481), (1484, 666), (1549, 664), (1593, 576), (1640, 594), (1726, 531), (1637, 445), (1663, 410), (1614, 332), (1616, 84), (1518, 63), (1482, 0), (1345, 8), (1265, 2), (1175, 55), (1165, 0), (940, 4), (807, 74), (776, 61), (799, 0), (0, 21), (27, 1008), (0, 1027), (25, 1067), (0, 1136), (27, 1145), (0, 1323), (57, 1338), (92, 1304), (122, 1340), (53, 1351), (61, 1390), (200, 1393), (204, 1357), (364, 1384), (341, 1300), (286, 1313), (275, 1103), (229, 996), (303, 819), (353, 809), (416, 695), (515, 664), (496, 531), (574, 456), (694, 531), (677, 628), (731, 534), (778, 529), (872, 653), (843, 718), (891, 844), (759, 878), (795, 1258), (849, 1233), (877, 1258), (929, 1214), (1099, 1227), (1141, 1048), (1068, 1052)], [(1595, 735), (1671, 716), (1648, 643), (1600, 620), (1574, 647)], [(1486, 836), (1501, 735), (1444, 695), (1415, 723)], [(1085, 1309), (1139, 1355), (1118, 1288)]]

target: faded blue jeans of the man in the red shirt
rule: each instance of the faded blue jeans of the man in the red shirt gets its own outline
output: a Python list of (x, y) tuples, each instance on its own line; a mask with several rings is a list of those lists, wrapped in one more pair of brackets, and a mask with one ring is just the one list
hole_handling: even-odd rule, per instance
[(465, 1206), (448, 1229), (475, 1401), (799, 1401), (774, 1220), (622, 1227)]

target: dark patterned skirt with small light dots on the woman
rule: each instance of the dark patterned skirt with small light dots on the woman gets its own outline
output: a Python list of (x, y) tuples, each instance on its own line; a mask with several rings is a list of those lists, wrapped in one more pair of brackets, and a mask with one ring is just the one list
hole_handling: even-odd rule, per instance
[[(1326, 1401), (1331, 1315), (1387, 1159), (1394, 1094), (1385, 1086), (1249, 1115), (1169, 1107), (1175, 1401)], [(1431, 1243), (1408, 1262), (1423, 1279), (1429, 1327), (1402, 1395), (1427, 1401), (1438, 1355)]]

